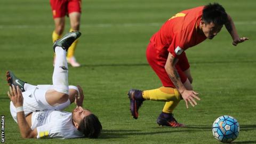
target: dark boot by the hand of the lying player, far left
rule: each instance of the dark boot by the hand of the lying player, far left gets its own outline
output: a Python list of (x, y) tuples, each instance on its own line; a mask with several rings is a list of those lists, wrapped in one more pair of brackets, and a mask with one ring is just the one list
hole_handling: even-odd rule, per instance
[(19, 87), (20, 87), (20, 90), (21, 90), (22, 92), (25, 92), (24, 84), (25, 84), (26, 82), (21, 81), (21, 80), (20, 80), (19, 78), (17, 78), (17, 77), (12, 73), (12, 71), (10, 71), (10, 70), (8, 70), (8, 71), (6, 72), (6, 81), (7, 81), (7, 83), (8, 83), (9, 86), (12, 86), (12, 85), (14, 85), (15, 87), (16, 87), (16, 86), (19, 86)]

